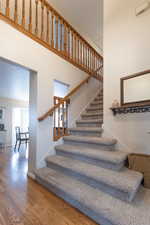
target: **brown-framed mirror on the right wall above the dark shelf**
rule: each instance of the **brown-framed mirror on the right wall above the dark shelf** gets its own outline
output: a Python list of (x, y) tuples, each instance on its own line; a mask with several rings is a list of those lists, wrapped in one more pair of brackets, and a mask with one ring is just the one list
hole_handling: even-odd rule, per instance
[(150, 105), (150, 70), (121, 78), (121, 106)]

